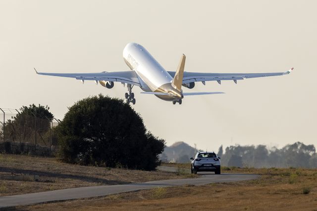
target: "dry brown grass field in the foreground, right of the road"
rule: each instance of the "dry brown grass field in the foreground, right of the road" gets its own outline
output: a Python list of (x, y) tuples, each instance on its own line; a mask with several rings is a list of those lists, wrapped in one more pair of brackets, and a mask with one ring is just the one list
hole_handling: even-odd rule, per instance
[(13, 210), (308, 210), (317, 211), (317, 169), (223, 169), (258, 173), (251, 181), (156, 188)]

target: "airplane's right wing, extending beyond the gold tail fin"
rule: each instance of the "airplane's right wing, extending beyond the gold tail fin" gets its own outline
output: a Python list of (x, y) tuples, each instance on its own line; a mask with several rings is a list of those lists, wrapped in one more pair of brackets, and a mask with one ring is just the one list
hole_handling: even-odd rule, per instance
[[(183, 84), (191, 82), (205, 82), (207, 81), (217, 81), (221, 84), (223, 80), (233, 80), (237, 83), (237, 80), (250, 79), (250, 78), (260, 78), (268, 76), (282, 76), (289, 74), (293, 68), (286, 72), (281, 73), (193, 73), (193, 72), (184, 72)], [(175, 72), (168, 72), (171, 77), (174, 77)]]

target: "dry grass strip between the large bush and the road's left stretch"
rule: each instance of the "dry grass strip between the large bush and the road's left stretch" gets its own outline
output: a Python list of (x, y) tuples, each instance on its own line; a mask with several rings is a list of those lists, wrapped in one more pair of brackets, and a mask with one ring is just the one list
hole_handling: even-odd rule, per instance
[(60, 163), (55, 158), (0, 154), (0, 175), (11, 175), (11, 172), (40, 175), (40, 180), (0, 180), (0, 196), (83, 186), (146, 182), (185, 176), (172, 172), (86, 167)]

